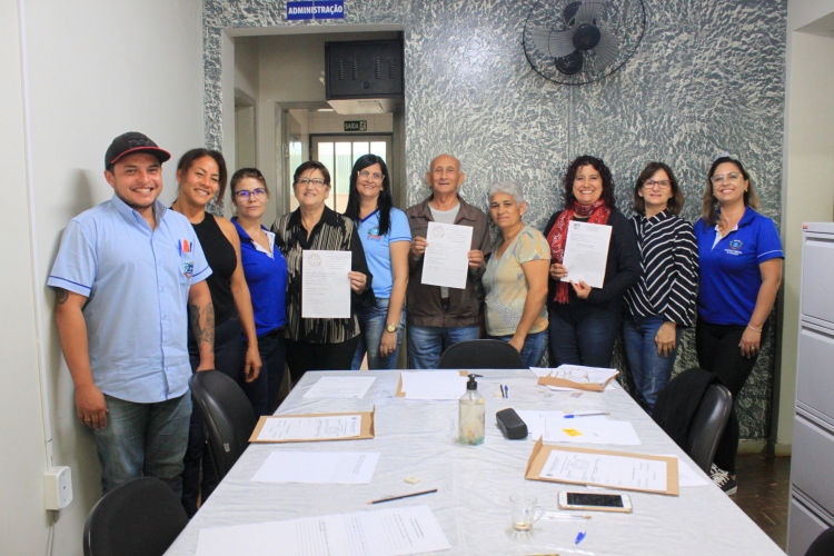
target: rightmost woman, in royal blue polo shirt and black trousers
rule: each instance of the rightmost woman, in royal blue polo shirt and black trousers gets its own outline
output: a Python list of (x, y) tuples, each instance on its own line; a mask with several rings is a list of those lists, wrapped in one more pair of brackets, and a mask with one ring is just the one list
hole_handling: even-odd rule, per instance
[[(767, 337), (768, 316), (782, 282), (782, 241), (773, 220), (759, 215), (758, 196), (742, 162), (721, 157), (709, 168), (702, 218), (695, 224), (701, 267), (695, 348), (702, 368), (715, 373), (735, 400)], [(738, 420), (731, 414), (718, 446), (713, 480), (736, 490)]]

